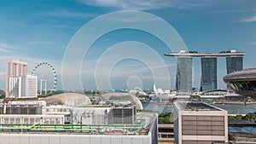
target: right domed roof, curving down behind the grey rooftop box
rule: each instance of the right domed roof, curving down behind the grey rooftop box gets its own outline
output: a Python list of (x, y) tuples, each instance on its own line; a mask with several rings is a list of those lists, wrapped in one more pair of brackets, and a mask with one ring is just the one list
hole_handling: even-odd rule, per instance
[(135, 95), (131, 95), (128, 93), (108, 93), (103, 94), (102, 97), (108, 101), (120, 101), (127, 102), (131, 101), (131, 103), (136, 104), (137, 109), (143, 109), (143, 104)]

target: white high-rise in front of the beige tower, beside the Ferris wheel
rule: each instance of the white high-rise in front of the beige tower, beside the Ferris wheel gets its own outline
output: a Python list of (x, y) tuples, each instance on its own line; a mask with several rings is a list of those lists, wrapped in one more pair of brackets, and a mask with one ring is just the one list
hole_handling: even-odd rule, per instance
[(9, 97), (37, 97), (38, 94), (38, 77), (37, 76), (21, 76), (9, 78)]

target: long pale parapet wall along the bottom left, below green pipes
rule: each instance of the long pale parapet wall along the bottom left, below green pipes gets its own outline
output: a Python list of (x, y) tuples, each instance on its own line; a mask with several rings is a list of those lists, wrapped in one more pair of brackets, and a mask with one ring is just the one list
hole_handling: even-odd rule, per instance
[(0, 144), (150, 144), (149, 135), (0, 134)]

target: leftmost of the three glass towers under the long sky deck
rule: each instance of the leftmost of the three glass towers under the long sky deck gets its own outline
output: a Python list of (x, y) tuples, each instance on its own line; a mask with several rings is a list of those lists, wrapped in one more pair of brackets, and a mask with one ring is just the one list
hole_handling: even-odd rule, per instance
[(192, 57), (177, 56), (177, 90), (192, 90)]

